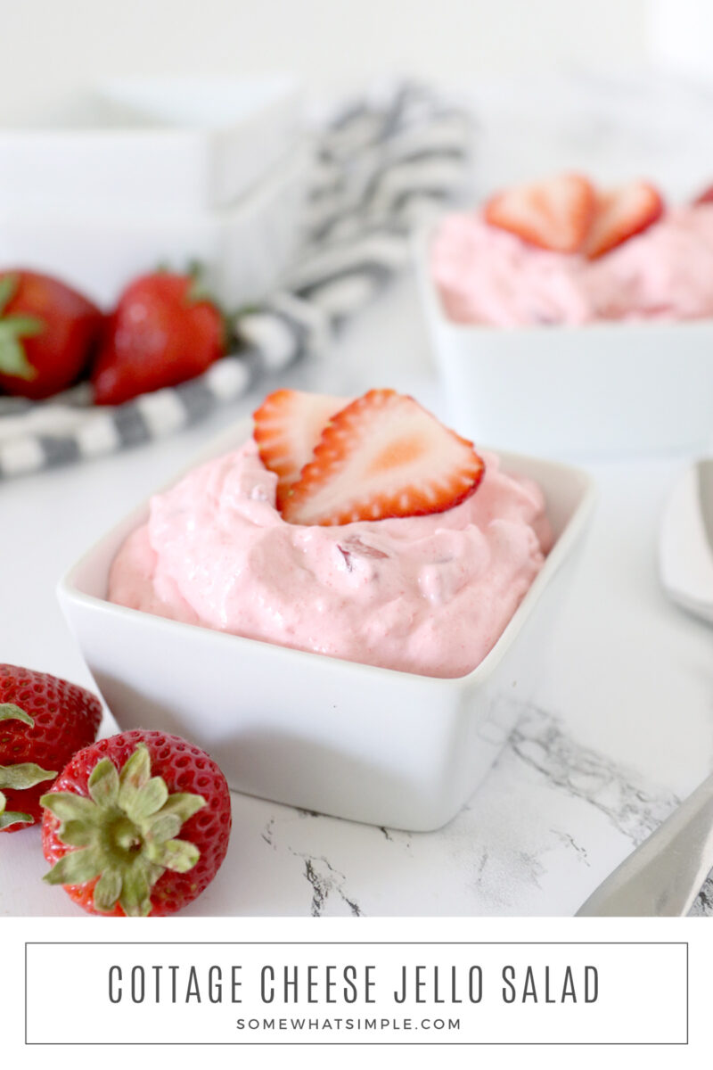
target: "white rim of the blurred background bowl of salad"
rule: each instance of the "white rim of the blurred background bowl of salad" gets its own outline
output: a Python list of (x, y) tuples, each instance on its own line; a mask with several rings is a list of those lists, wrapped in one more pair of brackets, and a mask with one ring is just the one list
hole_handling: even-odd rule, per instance
[[(455, 213), (458, 213), (458, 210), (455, 210)], [(436, 228), (444, 219), (453, 214), (453, 209), (439, 212), (423, 226), (416, 229), (410, 242), (421, 302), (425, 306), (429, 319), (436, 322), (440, 331), (449, 331), (453, 335), (461, 335), (464, 338), (469, 336), (482, 337), (483, 335), (507, 336), (508, 338), (542, 338), (548, 335), (552, 337), (551, 332), (553, 331), (557, 332), (557, 336), (560, 338), (578, 338), (583, 332), (586, 334), (592, 332), (600, 335), (600, 337), (610, 333), (617, 335), (624, 334), (629, 339), (632, 339), (632, 336), (637, 332), (645, 335), (655, 332), (657, 336), (662, 332), (669, 331), (673, 331), (677, 334), (680, 331), (687, 331), (692, 334), (706, 333), (713, 335), (713, 317), (711, 316), (687, 320), (641, 319), (596, 320), (593, 323), (527, 323), (511, 327), (498, 326), (495, 323), (459, 323), (456, 320), (450, 319), (444, 309), (440, 293), (431, 273), (429, 261), (429, 247)], [(713, 353), (713, 348), (711, 352)], [(679, 354), (679, 356), (685, 358), (685, 353)], [(576, 360), (576, 357), (577, 353), (573, 351), (572, 358)]]

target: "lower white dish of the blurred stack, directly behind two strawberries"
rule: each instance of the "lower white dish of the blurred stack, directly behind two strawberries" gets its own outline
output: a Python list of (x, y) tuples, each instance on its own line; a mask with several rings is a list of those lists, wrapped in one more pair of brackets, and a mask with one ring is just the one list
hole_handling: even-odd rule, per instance
[(299, 144), (251, 194), (219, 210), (47, 214), (0, 207), (0, 263), (56, 274), (110, 307), (137, 275), (161, 263), (185, 271), (197, 260), (232, 312), (268, 293), (297, 256), (311, 166), (311, 147)]

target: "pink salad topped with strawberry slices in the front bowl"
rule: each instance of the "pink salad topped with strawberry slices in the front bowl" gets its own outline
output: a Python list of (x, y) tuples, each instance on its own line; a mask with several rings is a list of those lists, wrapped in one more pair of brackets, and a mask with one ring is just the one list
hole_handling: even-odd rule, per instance
[(151, 501), (111, 601), (431, 676), (470, 672), (537, 576), (543, 494), (413, 398), (282, 389), (253, 438)]

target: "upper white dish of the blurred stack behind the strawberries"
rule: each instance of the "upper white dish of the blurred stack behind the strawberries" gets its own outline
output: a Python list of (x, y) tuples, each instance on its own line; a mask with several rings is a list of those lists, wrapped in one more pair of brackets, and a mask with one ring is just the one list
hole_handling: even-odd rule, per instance
[(7, 213), (220, 209), (300, 136), (294, 78), (135, 77), (100, 82), (32, 123), (0, 127)]

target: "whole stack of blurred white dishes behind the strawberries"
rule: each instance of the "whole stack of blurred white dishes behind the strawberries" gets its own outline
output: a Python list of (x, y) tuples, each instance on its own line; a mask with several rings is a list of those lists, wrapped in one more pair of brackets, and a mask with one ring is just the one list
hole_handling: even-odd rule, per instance
[(0, 269), (108, 306), (137, 275), (197, 260), (237, 309), (296, 255), (309, 171), (292, 78), (113, 80), (0, 128)]

